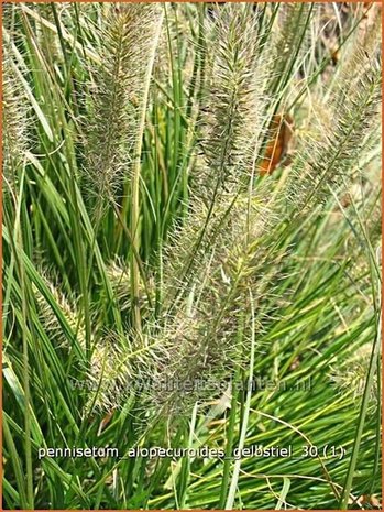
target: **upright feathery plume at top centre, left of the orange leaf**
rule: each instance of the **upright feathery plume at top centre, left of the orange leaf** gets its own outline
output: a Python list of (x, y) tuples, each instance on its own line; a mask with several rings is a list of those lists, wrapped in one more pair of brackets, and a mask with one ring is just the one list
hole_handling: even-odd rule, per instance
[(239, 184), (246, 186), (260, 144), (265, 76), (259, 61), (259, 11), (251, 7), (226, 4), (208, 26), (209, 78), (200, 130), (204, 159), (191, 176), (195, 195), (206, 201), (222, 192), (237, 192)]

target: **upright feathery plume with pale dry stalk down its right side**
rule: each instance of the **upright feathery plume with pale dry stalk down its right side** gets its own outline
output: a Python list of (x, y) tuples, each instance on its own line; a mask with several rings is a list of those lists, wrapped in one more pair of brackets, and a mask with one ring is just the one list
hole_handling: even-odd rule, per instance
[(124, 221), (129, 188), (131, 238), (132, 323), (141, 330), (140, 287), (140, 170), (152, 69), (162, 30), (157, 4), (121, 4), (106, 20), (100, 63), (94, 75), (91, 111), (87, 129), (88, 187), (95, 196), (97, 225), (106, 207), (118, 208)]

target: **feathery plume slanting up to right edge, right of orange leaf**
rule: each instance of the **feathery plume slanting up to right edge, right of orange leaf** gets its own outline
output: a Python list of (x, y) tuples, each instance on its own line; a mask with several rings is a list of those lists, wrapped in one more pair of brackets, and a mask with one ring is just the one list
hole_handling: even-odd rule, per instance
[[(325, 203), (329, 188), (337, 192), (359, 162), (359, 153), (381, 101), (381, 64), (376, 52), (355, 52), (358, 73), (342, 80), (331, 102), (332, 124), (321, 139), (306, 139), (293, 162), (287, 198), (300, 214)], [(348, 73), (348, 70), (345, 70)]]

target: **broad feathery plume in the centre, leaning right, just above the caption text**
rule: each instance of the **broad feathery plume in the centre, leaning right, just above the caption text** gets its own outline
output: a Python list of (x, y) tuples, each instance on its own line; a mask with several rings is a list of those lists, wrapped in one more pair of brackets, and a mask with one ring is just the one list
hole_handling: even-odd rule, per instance
[[(257, 190), (252, 198), (241, 195), (233, 201), (229, 196), (217, 201), (212, 218), (218, 222), (218, 236), (208, 251), (209, 261), (194, 273), (185, 299), (176, 308), (169, 305), (163, 324), (157, 330), (153, 329), (154, 345), (161, 347), (162, 357), (156, 358), (152, 369), (150, 399), (167, 413), (187, 412), (196, 401), (201, 403), (222, 392), (222, 385), (228, 384), (234, 369), (244, 363), (249, 336), (239, 338), (239, 331), (249, 322), (250, 290), (260, 299), (263, 297), (257, 316), (262, 328), (264, 306), (273, 293), (271, 275), (265, 269), (270, 248), (264, 239), (272, 228), (273, 215), (265, 192), (264, 188)], [(223, 220), (223, 211), (228, 210), (230, 214)], [(199, 210), (194, 213), (194, 221), (204, 221), (206, 215), (207, 206), (201, 201)], [(183, 254), (193, 230), (194, 226), (188, 224), (174, 248), (165, 286), (178, 271), (175, 260)], [(207, 248), (202, 252), (207, 252)], [(272, 261), (267, 263), (273, 268)], [(178, 286), (183, 287), (183, 282)], [(268, 296), (265, 298), (266, 288)]]

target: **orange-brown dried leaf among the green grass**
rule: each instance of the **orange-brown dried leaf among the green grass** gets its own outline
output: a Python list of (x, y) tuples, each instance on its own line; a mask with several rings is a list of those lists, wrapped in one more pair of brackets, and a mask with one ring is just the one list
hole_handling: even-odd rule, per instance
[(259, 166), (261, 176), (272, 174), (286, 155), (293, 132), (294, 120), (292, 116), (288, 113), (273, 116), (268, 130), (270, 140)]

